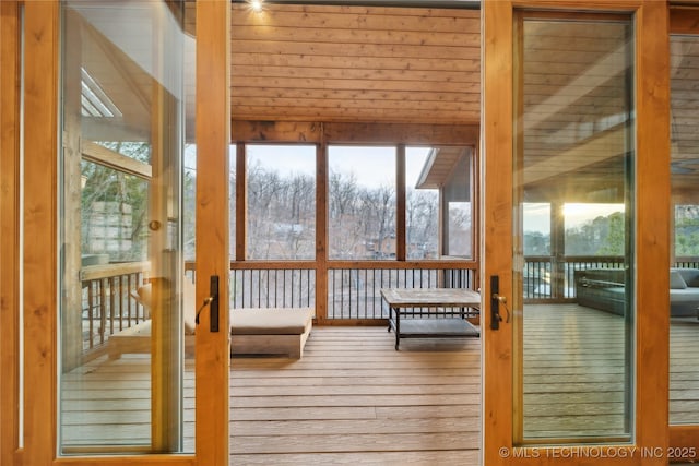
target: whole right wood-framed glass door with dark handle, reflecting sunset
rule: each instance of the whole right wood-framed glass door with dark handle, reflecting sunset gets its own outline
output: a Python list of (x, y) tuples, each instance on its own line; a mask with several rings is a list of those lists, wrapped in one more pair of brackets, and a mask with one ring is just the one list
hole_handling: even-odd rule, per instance
[(483, 9), (485, 464), (666, 461), (667, 12), (535, 3)]

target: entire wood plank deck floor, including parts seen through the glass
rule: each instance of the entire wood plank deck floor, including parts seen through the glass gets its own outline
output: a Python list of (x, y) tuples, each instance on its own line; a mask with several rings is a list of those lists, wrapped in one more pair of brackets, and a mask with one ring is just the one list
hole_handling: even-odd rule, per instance
[[(524, 429), (625, 428), (623, 320), (576, 304), (525, 308)], [(699, 421), (699, 321), (671, 328), (671, 420)], [(232, 465), (479, 463), (477, 338), (404, 339), (386, 327), (315, 327), (304, 358), (232, 359)], [(193, 451), (193, 368), (185, 451)], [(61, 444), (147, 447), (150, 358), (96, 359), (63, 377)], [(585, 426), (581, 430), (580, 426)]]

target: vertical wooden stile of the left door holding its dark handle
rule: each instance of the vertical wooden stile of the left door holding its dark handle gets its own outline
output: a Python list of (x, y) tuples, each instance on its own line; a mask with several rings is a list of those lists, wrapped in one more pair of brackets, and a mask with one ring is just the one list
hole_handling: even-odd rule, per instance
[[(230, 145), (230, 3), (197, 2), (197, 303), (217, 275), (220, 322), (201, 313), (196, 350), (197, 459), (228, 465), (228, 191)], [(202, 331), (203, 330), (203, 331)]]

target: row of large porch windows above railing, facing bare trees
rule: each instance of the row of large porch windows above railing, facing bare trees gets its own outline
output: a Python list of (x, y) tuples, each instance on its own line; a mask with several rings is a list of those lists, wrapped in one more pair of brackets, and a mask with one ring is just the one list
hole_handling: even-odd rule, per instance
[[(232, 163), (232, 170), (245, 166), (245, 192), (233, 196), (230, 210), (245, 212), (232, 218), (245, 219), (237, 239), (246, 247), (234, 258), (474, 259), (471, 147), (331, 144), (324, 154), (318, 150), (245, 144), (244, 157)], [(317, 166), (323, 157), (325, 169)], [(324, 225), (317, 224), (318, 208), (327, 208)], [(327, 252), (317, 258), (318, 244)]]

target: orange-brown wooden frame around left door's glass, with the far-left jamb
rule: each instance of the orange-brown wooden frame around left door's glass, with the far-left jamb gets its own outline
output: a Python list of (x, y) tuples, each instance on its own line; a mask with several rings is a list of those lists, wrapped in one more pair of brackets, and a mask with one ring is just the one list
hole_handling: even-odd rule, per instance
[[(2, 196), (2, 224), (11, 226), (13, 236), (3, 235), (3, 244), (8, 247), (19, 240), (19, 206), (16, 196), (20, 186), (31, 186), (24, 192), (24, 380), (32, 383), (23, 385), (23, 432), (19, 431), (19, 409), (2, 410), (2, 462), (26, 465), (100, 465), (100, 464), (157, 464), (157, 465), (227, 465), (228, 464), (228, 333), (218, 334), (198, 332), (197, 349), (197, 444), (196, 455), (127, 455), (58, 457), (57, 454), (57, 355), (58, 355), (58, 155), (59, 155), (59, 59), (60, 59), (60, 3), (58, 0), (24, 2), (24, 179), (17, 177), (21, 154), (19, 151), (19, 96), (14, 86), (8, 82), (17, 80), (20, 37), (19, 21), (5, 21), (4, 13), (19, 19), (20, 2), (2, 2), (2, 182), (13, 188)], [(227, 189), (228, 141), (230, 107), (229, 98), (229, 2), (204, 0), (197, 3), (199, 19), (198, 48), (198, 128), (200, 142), (200, 175), (208, 183), (198, 183), (199, 225), (208, 225), (202, 232), (198, 230), (198, 244), (204, 244), (198, 251), (198, 271), (202, 276), (220, 274), (222, 289), (220, 294), (221, 327), (228, 327), (227, 312)], [(5, 27), (14, 26), (14, 27)], [(5, 67), (5, 61), (14, 67)], [(8, 81), (4, 81), (9, 76)], [(225, 94), (222, 93), (225, 89)], [(5, 104), (8, 104), (5, 106)], [(203, 108), (206, 110), (203, 111)], [(5, 152), (7, 150), (7, 152)], [(10, 156), (9, 154), (12, 154)], [(205, 160), (205, 163), (204, 163)], [(218, 164), (218, 165), (217, 165)], [(5, 171), (5, 168), (8, 170)], [(5, 210), (8, 205), (15, 205)], [(222, 234), (223, 231), (223, 234)], [(10, 241), (10, 238), (15, 240)], [(212, 241), (221, 238), (221, 242)], [(19, 254), (4, 255), (2, 273), (3, 296), (8, 290), (13, 300), (3, 299), (3, 306), (16, 304), (19, 280), (11, 271), (19, 270)], [(218, 253), (221, 250), (226, 254)], [(12, 258), (12, 259), (8, 259)], [(10, 274), (8, 274), (10, 272)], [(11, 275), (11, 276), (10, 276)], [(208, 280), (206, 280), (208, 283)], [(197, 295), (199, 300), (209, 295), (204, 280), (200, 280)], [(9, 289), (12, 287), (12, 289)], [(4, 308), (3, 308), (4, 309)], [(10, 315), (8, 315), (10, 314)], [(5, 368), (14, 367), (19, 359), (19, 328), (8, 330), (5, 323), (16, 326), (17, 313), (2, 313), (3, 335), (3, 391), (2, 406), (19, 399), (20, 381), (16, 373), (5, 373)], [(7, 319), (5, 319), (7, 316)], [(202, 325), (209, 324), (208, 314), (202, 313)], [(8, 358), (12, 358), (12, 365)], [(5, 366), (4, 363), (8, 362)], [(14, 374), (14, 375), (13, 375)], [(205, 375), (205, 377), (204, 377)], [(215, 380), (215, 383), (212, 383)], [(7, 382), (7, 384), (5, 384)], [(5, 389), (7, 387), (7, 389)], [(15, 432), (14, 435), (11, 433)], [(20, 437), (23, 449), (19, 447)], [(9, 458), (9, 459), (5, 459)]]

